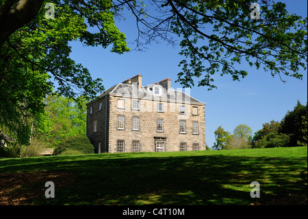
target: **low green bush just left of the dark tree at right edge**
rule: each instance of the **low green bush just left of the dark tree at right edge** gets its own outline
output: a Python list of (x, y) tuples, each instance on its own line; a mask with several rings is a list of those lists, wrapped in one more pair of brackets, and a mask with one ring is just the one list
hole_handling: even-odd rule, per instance
[(290, 136), (279, 134), (277, 132), (270, 132), (262, 139), (257, 141), (255, 148), (281, 148), (290, 146)]

